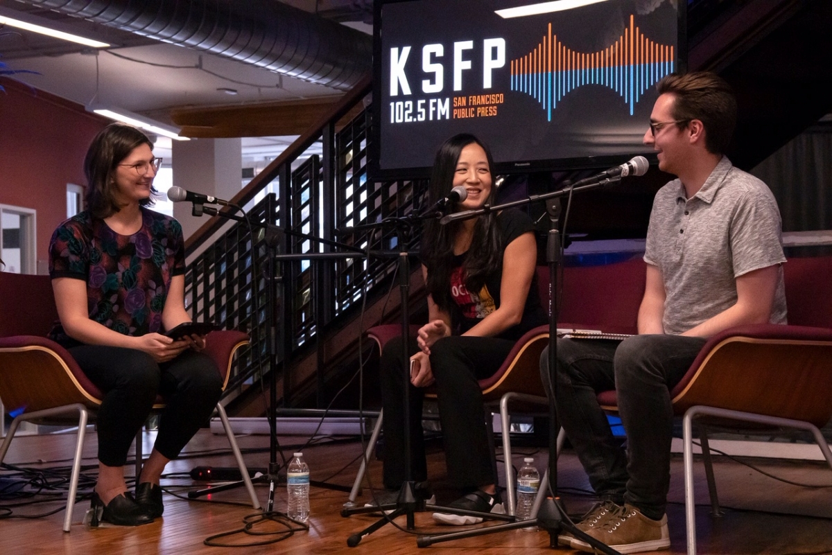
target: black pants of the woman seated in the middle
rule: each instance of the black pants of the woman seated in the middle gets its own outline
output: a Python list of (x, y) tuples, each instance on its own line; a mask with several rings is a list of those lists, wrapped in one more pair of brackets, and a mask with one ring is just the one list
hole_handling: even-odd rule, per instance
[[(448, 479), (460, 489), (496, 484), (496, 463), (485, 423), (483, 394), (478, 380), (493, 376), (514, 341), (493, 337), (444, 337), (431, 347), (430, 366), (436, 379), (439, 421), (448, 465)], [(428, 477), (422, 432), (423, 388), (409, 381), (409, 360), (402, 361), (402, 340), (384, 346), (380, 381), (384, 402), (384, 487), (399, 489), (404, 473), (404, 384), (409, 390), (411, 477)], [(411, 341), (409, 354), (418, 351)], [(408, 357), (409, 359), (409, 357)]]

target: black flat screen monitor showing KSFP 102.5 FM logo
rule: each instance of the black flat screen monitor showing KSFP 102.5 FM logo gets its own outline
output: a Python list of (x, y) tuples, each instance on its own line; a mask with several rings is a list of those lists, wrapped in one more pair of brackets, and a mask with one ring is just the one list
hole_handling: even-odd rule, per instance
[(377, 0), (372, 179), (426, 177), (451, 135), (498, 173), (609, 167), (685, 60), (685, 0)]

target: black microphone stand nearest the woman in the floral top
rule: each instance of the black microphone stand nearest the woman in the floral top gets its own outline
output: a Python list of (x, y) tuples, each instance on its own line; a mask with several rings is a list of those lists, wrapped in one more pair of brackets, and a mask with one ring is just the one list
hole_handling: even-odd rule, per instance
[[(230, 205), (232, 208), (240, 210), (239, 206)], [(269, 519), (270, 515), (274, 512), (275, 506), (275, 486), (278, 483), (278, 472), (280, 470), (280, 464), (277, 462), (277, 453), (278, 453), (278, 441), (277, 441), (277, 359), (278, 355), (280, 354), (280, 360), (284, 363), (284, 371), (287, 369), (285, 368), (286, 358), (285, 358), (285, 338), (286, 338), (286, 326), (285, 326), (285, 318), (280, 319), (280, 334), (275, 334), (275, 329), (277, 329), (277, 317), (275, 314), (275, 303), (278, 297), (278, 292), (275, 290), (275, 284), (280, 283), (282, 287), (283, 280), (282, 278), (275, 277), (275, 260), (306, 260), (311, 258), (363, 258), (367, 256), (367, 253), (364, 253), (363, 250), (360, 248), (353, 247), (351, 245), (347, 245), (344, 243), (338, 243), (337, 241), (330, 241), (329, 239), (324, 238), (316, 238), (311, 235), (307, 235), (306, 233), (300, 233), (291, 229), (280, 228), (273, 223), (265, 223), (265, 222), (250, 222), (243, 216), (238, 216), (236, 214), (232, 214), (228, 211), (220, 211), (210, 206), (205, 206), (202, 203), (194, 203), (192, 215), (194, 216), (201, 216), (202, 214), (208, 214), (210, 216), (220, 216), (225, 219), (233, 219), (238, 222), (248, 222), (251, 225), (254, 225), (258, 228), (265, 229), (265, 243), (269, 248), (269, 257), (268, 257), (268, 264), (266, 267), (266, 281), (268, 283), (268, 294), (266, 296), (267, 302), (269, 304), (268, 310), (268, 317), (265, 321), (265, 336), (268, 340), (269, 346), (269, 371), (270, 371), (270, 380), (269, 380), (269, 469), (265, 476), (260, 478), (255, 478), (255, 480), (250, 480), (248, 476), (244, 476), (242, 480), (237, 482), (232, 482), (230, 484), (222, 484), (218, 486), (212, 486), (206, 489), (200, 489), (196, 491), (191, 491), (188, 494), (188, 499), (196, 499), (201, 495), (205, 494), (215, 494), (219, 493), (220, 491), (225, 491), (227, 489), (234, 489), (240, 487), (241, 485), (248, 484), (250, 481), (258, 481), (258, 482), (267, 482), (269, 484), (269, 499), (266, 503), (265, 512), (262, 514), (262, 519)], [(310, 253), (310, 254), (278, 254), (278, 248), (280, 246), (281, 238), (283, 233), (287, 235), (292, 235), (294, 237), (306, 238), (318, 243), (324, 243), (335, 247), (344, 248), (346, 250), (352, 251), (351, 253)], [(254, 238), (252, 238), (252, 246), (254, 245)], [(282, 273), (281, 273), (282, 275)], [(252, 280), (252, 287), (254, 287), (254, 283), (256, 280)], [(254, 292), (252, 293), (255, 294)], [(285, 299), (285, 294), (281, 290), (280, 297)], [(278, 336), (280, 341), (277, 341)], [(278, 347), (278, 343), (280, 347)], [(325, 484), (324, 482), (314, 482), (310, 481), (311, 485), (325, 487), (329, 489), (339, 489), (344, 491), (349, 491), (349, 488), (345, 486), (335, 486), (331, 484)]]

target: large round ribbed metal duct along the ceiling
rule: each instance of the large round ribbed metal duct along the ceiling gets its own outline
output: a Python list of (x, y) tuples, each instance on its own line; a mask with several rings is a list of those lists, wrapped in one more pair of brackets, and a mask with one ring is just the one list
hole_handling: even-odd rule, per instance
[(369, 73), (372, 39), (276, 0), (19, 0), (341, 91)]

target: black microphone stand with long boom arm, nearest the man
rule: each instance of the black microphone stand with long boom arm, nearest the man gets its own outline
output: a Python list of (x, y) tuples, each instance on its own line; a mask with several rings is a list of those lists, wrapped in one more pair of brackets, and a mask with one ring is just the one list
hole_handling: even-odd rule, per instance
[[(563, 189), (553, 191), (546, 194), (535, 194), (527, 197), (527, 199), (520, 199), (506, 204), (498, 204), (490, 206), (486, 204), (481, 209), (465, 210), (456, 214), (448, 214), (439, 220), (440, 223), (446, 224), (455, 220), (475, 218), (480, 214), (487, 214), (491, 211), (499, 211), (513, 206), (532, 204), (540, 201), (547, 201), (547, 213), (549, 214), (549, 232), (547, 233), (546, 243), (546, 259), (549, 266), (549, 299), (551, 302), (549, 310), (549, 341), (548, 341), (548, 366), (549, 366), (549, 382), (552, 385), (552, 396), (557, 388), (556, 364), (557, 364), (557, 317), (559, 314), (559, 302), (557, 295), (557, 276), (558, 268), (562, 262), (561, 260), (561, 239), (560, 232), (557, 230), (558, 219), (560, 219), (560, 197), (572, 193), (576, 193), (588, 189), (597, 189), (605, 187), (610, 184), (617, 184), (621, 181), (621, 176), (592, 176), (587, 179), (582, 179), (576, 184), (573, 184)], [(474, 536), (484, 536), (486, 534), (503, 532), (504, 530), (515, 530), (518, 528), (527, 528), (529, 526), (538, 526), (544, 528), (549, 533), (549, 547), (557, 548), (557, 536), (561, 529), (572, 533), (576, 538), (582, 539), (584, 542), (591, 545), (593, 548), (601, 553), (607, 555), (618, 555), (618, 552), (608, 547), (606, 544), (598, 541), (595, 538), (588, 536), (581, 530), (577, 529), (574, 524), (568, 519), (563, 518), (566, 514), (565, 508), (561, 499), (557, 495), (557, 433), (560, 430), (560, 425), (557, 420), (557, 409), (554, 400), (549, 400), (549, 465), (547, 469), (548, 484), (544, 481), (540, 491), (537, 493), (534, 506), (532, 507), (532, 519), (530, 520), (515, 520), (511, 517), (513, 522), (507, 524), (497, 524), (487, 528), (478, 528), (476, 530), (467, 530), (464, 532), (443, 533), (434, 535), (422, 535), (416, 538), (416, 544), (419, 548), (426, 548), (433, 543), (448, 542), (454, 539), (472, 538)], [(506, 464), (511, 464), (511, 461), (506, 461)], [(545, 478), (545, 477), (544, 477)], [(552, 493), (552, 497), (542, 499), (546, 494), (546, 488)]]

